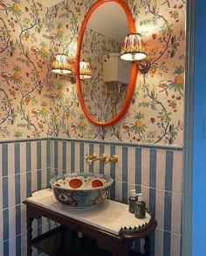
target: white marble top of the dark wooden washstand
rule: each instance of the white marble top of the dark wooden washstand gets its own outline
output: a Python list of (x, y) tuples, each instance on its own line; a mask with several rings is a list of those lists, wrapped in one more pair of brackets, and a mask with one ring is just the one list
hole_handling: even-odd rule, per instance
[(119, 234), (121, 227), (138, 227), (139, 225), (148, 223), (150, 220), (148, 213), (145, 218), (138, 219), (128, 211), (127, 204), (107, 199), (104, 203), (100, 203), (91, 210), (71, 210), (68, 206), (58, 203), (53, 196), (52, 190), (49, 188), (33, 193), (26, 201), (35, 203), (48, 210), (56, 211), (67, 217), (72, 217), (83, 223), (93, 225), (114, 235)]

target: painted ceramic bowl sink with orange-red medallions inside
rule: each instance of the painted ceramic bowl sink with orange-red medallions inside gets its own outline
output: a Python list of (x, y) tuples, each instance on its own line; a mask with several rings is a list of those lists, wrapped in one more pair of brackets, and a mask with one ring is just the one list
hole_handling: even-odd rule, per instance
[(58, 202), (73, 210), (87, 210), (107, 198), (113, 179), (92, 173), (60, 174), (50, 184)]

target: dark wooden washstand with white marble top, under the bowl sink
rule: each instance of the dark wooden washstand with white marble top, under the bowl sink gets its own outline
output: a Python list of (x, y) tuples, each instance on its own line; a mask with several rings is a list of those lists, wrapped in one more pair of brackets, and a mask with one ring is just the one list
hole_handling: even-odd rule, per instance
[[(31, 256), (32, 246), (38, 248), (38, 245), (41, 245), (41, 239), (52, 241), (50, 237), (52, 239), (53, 236), (54, 240), (57, 240), (55, 236), (58, 236), (58, 233), (62, 236), (61, 242), (65, 241), (66, 244), (62, 245), (61, 243), (59, 246), (65, 246), (68, 249), (69, 241), (67, 243), (66, 239), (72, 236), (72, 232), (77, 233), (77, 231), (82, 233), (83, 238), (95, 239), (100, 250), (109, 251), (111, 252), (109, 255), (113, 256), (130, 255), (129, 252), (134, 240), (144, 238), (145, 253), (143, 255), (149, 255), (148, 234), (155, 230), (156, 220), (148, 213), (142, 220), (135, 218), (134, 214), (128, 212), (127, 204), (106, 200), (92, 210), (71, 210), (58, 203), (49, 188), (33, 193), (24, 203), (26, 204), (27, 215), (27, 256)], [(32, 239), (32, 221), (40, 217), (47, 217), (62, 226), (39, 238)], [(47, 243), (48, 247), (52, 246), (51, 242)], [(62, 252), (61, 254), (59, 252), (54, 252), (52, 255), (63, 256)], [(69, 253), (66, 255), (77, 254)], [(90, 253), (89, 255), (99, 256), (100, 253)]]

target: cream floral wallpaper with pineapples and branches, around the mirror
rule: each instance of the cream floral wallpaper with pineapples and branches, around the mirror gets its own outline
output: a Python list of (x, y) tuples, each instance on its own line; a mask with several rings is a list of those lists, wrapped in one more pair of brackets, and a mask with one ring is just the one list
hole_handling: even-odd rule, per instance
[[(182, 145), (185, 8), (183, 0), (128, 1), (147, 43), (151, 68), (138, 75), (118, 124), (84, 116), (73, 77), (52, 74), (56, 53), (75, 62), (81, 21), (92, 2), (0, 1), (0, 138), (58, 136)], [(99, 37), (93, 44), (102, 44)], [(95, 63), (93, 63), (95, 68)]]

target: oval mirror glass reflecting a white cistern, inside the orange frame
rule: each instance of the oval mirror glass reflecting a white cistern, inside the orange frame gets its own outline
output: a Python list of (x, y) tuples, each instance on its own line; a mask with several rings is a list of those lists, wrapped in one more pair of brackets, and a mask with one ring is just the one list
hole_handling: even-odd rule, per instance
[(90, 115), (106, 122), (117, 115), (124, 103), (131, 63), (120, 59), (120, 46), (129, 32), (127, 16), (120, 4), (101, 4), (86, 25), (80, 60), (88, 61), (92, 78), (81, 80)]

